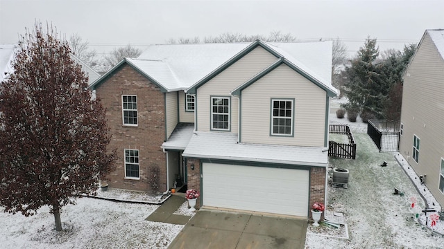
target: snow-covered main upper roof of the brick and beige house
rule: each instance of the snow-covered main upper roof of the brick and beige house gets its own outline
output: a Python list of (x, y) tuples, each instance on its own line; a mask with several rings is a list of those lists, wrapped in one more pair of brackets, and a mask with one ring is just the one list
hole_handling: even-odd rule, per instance
[(303, 71), (304, 75), (336, 93), (331, 85), (331, 41), (266, 43), (257, 40), (253, 43), (151, 45), (139, 57), (123, 59), (90, 87), (96, 89), (123, 64), (128, 64), (159, 86), (162, 92), (183, 90), (194, 93), (200, 85), (257, 46), (266, 49), (277, 59), (285, 57), (289, 64)]

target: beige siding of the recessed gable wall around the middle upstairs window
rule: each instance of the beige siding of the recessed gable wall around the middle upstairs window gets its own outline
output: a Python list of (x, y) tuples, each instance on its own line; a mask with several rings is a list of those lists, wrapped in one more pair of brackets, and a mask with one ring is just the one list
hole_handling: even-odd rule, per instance
[[(212, 80), (200, 86), (197, 90), (198, 131), (210, 131), (210, 96), (229, 97), (232, 90), (270, 66), (276, 59), (264, 48), (257, 47), (219, 75), (216, 75)], [(230, 131), (237, 133), (239, 111), (239, 100), (237, 98), (231, 98), (230, 111)]]

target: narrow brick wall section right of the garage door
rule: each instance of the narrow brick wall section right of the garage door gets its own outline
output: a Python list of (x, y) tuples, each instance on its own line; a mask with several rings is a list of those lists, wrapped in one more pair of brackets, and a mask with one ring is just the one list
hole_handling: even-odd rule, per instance
[[(310, 169), (310, 199), (309, 199), (309, 219), (311, 220), (311, 207), (314, 203), (325, 203), (325, 167), (311, 167)], [(324, 213), (323, 213), (324, 214)], [(321, 220), (323, 215), (321, 216)]]

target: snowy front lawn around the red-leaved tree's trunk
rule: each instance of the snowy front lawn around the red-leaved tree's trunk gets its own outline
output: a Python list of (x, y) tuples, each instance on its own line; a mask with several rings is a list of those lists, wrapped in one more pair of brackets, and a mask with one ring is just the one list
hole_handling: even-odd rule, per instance
[(145, 221), (158, 207), (78, 199), (62, 210), (62, 232), (47, 207), (30, 217), (0, 208), (0, 248), (167, 248), (183, 225)]

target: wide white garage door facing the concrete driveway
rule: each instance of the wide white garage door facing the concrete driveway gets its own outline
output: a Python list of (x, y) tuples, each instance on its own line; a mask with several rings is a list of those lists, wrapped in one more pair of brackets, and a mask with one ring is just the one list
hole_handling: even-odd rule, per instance
[(307, 216), (309, 171), (203, 163), (203, 205)]

